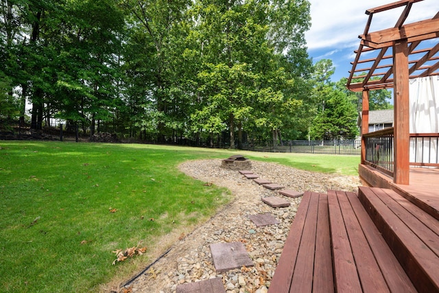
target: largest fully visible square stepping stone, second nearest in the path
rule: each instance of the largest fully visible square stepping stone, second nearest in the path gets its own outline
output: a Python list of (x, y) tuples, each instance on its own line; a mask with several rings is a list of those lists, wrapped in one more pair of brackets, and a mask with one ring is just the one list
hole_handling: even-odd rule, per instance
[(213, 266), (217, 272), (226, 272), (242, 266), (254, 266), (242, 242), (211, 244)]

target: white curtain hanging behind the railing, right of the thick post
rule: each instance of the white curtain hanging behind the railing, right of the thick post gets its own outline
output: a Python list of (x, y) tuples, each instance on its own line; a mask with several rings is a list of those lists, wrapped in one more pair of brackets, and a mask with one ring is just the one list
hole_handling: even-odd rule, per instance
[[(410, 133), (439, 132), (439, 76), (410, 80)], [(438, 139), (410, 139), (410, 162), (436, 163)]]

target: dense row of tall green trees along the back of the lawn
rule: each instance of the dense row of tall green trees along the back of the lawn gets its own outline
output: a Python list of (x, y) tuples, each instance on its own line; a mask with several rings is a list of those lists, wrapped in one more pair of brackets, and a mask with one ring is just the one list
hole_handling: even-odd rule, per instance
[[(330, 60), (307, 54), (307, 0), (0, 1), (4, 125), (56, 118), (90, 135), (235, 148), (305, 138), (317, 113), (352, 108), (331, 110), (352, 96), (330, 82)], [(313, 135), (353, 135), (339, 128)]]

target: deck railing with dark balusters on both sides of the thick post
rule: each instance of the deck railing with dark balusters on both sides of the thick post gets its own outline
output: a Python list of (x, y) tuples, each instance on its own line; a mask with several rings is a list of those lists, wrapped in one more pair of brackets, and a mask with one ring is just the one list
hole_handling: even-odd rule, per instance
[[(366, 133), (364, 163), (393, 176), (394, 128)], [(439, 167), (439, 133), (410, 134), (410, 166)]]

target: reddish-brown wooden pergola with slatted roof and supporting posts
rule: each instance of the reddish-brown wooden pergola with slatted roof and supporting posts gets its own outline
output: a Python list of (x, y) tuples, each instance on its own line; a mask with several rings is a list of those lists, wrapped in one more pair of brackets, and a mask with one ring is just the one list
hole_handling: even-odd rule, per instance
[[(359, 36), (359, 48), (355, 51), (346, 84), (349, 90), (362, 92), (362, 134), (368, 131), (369, 91), (394, 90), (393, 178), (394, 183), (403, 185), (409, 184), (410, 167), (409, 80), (439, 75), (439, 56), (436, 56), (439, 51), (439, 12), (431, 19), (405, 23), (412, 5), (420, 1), (423, 0), (403, 0), (366, 10), (368, 21), (364, 34)], [(394, 27), (369, 32), (375, 14), (394, 11), (395, 8), (402, 9), (402, 12)], [(361, 164), (365, 161), (366, 143), (363, 140)]]

